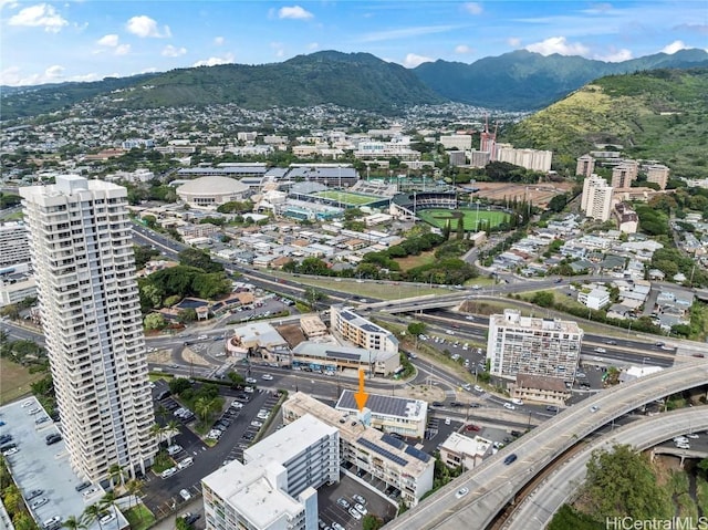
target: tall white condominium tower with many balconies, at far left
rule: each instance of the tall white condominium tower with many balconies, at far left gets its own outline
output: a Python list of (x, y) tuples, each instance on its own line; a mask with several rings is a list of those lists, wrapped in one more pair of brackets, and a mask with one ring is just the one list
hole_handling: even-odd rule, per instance
[(126, 189), (64, 175), (20, 195), (71, 465), (144, 472), (157, 447)]

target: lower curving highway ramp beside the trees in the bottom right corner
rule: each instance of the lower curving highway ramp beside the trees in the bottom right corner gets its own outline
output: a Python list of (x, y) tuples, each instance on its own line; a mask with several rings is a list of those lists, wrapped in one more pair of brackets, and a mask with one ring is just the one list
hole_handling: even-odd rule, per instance
[[(708, 411), (705, 406), (659, 414), (616, 428), (589, 444), (581, 453), (574, 454), (539, 487), (529, 491), (502, 528), (504, 530), (545, 528), (561, 506), (572, 500), (577, 488), (585, 480), (585, 466), (595, 449), (610, 450), (615, 444), (627, 444), (637, 450), (644, 450), (691, 429), (707, 428)], [(694, 458), (700, 458), (700, 456), (694, 456)], [(607, 513), (607, 516), (612, 515)]]

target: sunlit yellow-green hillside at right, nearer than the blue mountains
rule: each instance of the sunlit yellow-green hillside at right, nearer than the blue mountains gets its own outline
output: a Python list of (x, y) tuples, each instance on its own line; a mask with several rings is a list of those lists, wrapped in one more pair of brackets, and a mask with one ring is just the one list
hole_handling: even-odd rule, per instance
[(622, 144), (627, 156), (657, 159), (674, 176), (708, 177), (708, 69), (598, 79), (517, 124), (504, 139), (572, 158), (595, 143)]

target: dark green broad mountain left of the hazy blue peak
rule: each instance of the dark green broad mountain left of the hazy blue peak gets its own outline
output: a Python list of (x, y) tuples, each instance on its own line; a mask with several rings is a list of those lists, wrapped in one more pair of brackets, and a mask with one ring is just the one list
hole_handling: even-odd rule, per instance
[[(446, 101), (418, 81), (412, 71), (367, 53), (319, 52), (257, 66), (223, 64), (181, 69), (118, 87), (122, 90), (113, 86), (103, 91), (102, 104), (115, 108), (154, 108), (233, 103), (250, 110), (334, 104), (388, 113), (405, 105)], [(75, 103), (77, 98), (73, 94), (79, 89), (74, 85), (37, 87), (32, 95), (42, 94), (51, 100), (61, 92), (62, 100)], [(96, 93), (84, 92), (84, 95)], [(18, 94), (3, 97), (3, 118), (13, 117), (12, 111), (21, 108), (14, 103), (15, 97)]]

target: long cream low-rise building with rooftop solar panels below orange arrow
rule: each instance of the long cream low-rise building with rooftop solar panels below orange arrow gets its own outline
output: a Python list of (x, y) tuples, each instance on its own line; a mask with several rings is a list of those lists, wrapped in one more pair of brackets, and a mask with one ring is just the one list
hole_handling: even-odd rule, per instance
[(345, 468), (368, 472), (387, 487), (400, 491), (402, 500), (416, 506), (433, 488), (435, 459), (405, 441), (369, 427), (371, 414), (336, 411), (312, 396), (298, 392), (282, 407), (285, 424), (312, 414), (340, 430), (340, 454)]

